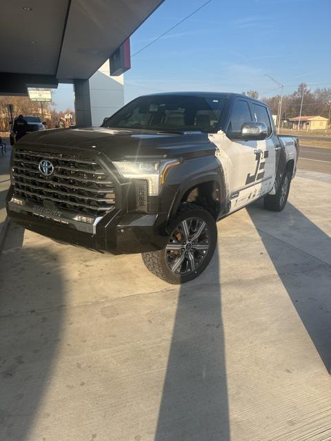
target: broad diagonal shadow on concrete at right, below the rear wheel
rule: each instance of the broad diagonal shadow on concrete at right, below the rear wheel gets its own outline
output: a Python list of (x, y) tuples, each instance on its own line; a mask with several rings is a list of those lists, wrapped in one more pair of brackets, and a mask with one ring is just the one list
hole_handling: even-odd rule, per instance
[(273, 217), (268, 212), (262, 214), (261, 209), (261, 201), (248, 207), (252, 223), (330, 373), (330, 237), (290, 203), (283, 212), (272, 213)]

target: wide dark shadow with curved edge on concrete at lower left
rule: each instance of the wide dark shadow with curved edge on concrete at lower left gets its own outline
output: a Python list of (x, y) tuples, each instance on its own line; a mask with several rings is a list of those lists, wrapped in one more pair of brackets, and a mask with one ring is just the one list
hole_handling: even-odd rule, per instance
[[(56, 261), (45, 247), (5, 247), (0, 257), (1, 440), (30, 437), (50, 382), (63, 322)], [(47, 409), (41, 417), (52, 426)]]

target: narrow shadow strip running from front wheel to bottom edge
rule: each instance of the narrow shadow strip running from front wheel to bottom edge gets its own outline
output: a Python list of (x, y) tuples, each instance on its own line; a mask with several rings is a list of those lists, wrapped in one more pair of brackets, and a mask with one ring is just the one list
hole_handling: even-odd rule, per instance
[(156, 441), (230, 440), (219, 256), (213, 284), (179, 291)]

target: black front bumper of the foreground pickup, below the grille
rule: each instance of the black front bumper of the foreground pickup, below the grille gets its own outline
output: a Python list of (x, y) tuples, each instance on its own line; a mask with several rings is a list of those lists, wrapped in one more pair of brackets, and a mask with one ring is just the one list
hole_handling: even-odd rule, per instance
[(47, 208), (32, 201), (15, 201), (12, 192), (8, 192), (6, 207), (10, 220), (32, 232), (99, 252), (150, 252), (164, 248), (168, 241), (166, 213), (129, 212), (123, 215), (114, 207), (101, 218), (89, 219), (83, 214), (77, 217), (80, 215), (77, 212)]

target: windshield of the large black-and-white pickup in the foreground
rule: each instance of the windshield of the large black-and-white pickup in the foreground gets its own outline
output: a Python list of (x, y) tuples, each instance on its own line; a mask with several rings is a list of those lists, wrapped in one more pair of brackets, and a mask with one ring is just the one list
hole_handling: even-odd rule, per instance
[(105, 121), (102, 127), (217, 132), (225, 96), (141, 96)]

